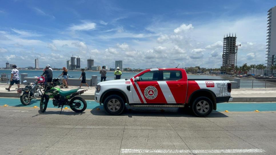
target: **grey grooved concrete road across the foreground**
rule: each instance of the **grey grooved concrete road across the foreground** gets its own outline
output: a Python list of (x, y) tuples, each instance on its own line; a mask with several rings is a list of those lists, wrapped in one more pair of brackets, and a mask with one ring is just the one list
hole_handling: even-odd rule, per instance
[[(140, 109), (143, 110), (143, 109)], [(180, 111), (181, 110), (181, 111)], [(0, 154), (271, 154), (276, 152), (276, 112), (103, 110), (0, 106)]]

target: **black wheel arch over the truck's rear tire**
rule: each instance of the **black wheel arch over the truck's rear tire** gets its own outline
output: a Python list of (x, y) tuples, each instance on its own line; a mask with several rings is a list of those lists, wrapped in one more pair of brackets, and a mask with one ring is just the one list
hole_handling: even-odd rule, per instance
[(208, 97), (213, 102), (213, 110), (217, 110), (216, 94), (209, 89), (199, 89), (194, 91), (188, 99), (188, 104), (191, 105), (192, 101), (201, 96)]

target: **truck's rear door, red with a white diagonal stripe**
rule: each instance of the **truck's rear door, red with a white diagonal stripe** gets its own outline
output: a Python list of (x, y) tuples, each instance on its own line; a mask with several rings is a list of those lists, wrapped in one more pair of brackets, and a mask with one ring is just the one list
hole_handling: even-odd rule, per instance
[(187, 95), (186, 75), (182, 75), (181, 70), (161, 70), (162, 92), (167, 103), (185, 103)]

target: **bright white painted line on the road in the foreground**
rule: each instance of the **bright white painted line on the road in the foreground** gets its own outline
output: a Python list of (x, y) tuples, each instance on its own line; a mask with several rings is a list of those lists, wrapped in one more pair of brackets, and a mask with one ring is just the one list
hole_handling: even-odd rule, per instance
[(121, 153), (264, 153), (263, 149), (226, 149), (226, 150), (149, 150), (121, 149)]

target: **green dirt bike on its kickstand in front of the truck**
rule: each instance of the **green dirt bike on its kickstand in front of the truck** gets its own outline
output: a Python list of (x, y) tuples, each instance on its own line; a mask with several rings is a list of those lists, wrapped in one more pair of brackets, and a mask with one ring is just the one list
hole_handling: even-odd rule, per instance
[(86, 109), (87, 107), (86, 101), (81, 97), (75, 97), (75, 96), (80, 95), (87, 90), (72, 89), (68, 91), (63, 91), (56, 87), (57, 85), (60, 85), (59, 81), (62, 79), (63, 78), (53, 79), (53, 83), (44, 84), (45, 87), (40, 100), (40, 111), (42, 113), (45, 112), (45, 110), (47, 109), (47, 105), (50, 98), (53, 99), (54, 107), (58, 107), (58, 108), (61, 107), (61, 111), (63, 106), (65, 105), (70, 106), (70, 108), (76, 113), (81, 113)]

